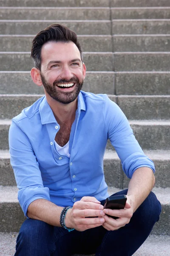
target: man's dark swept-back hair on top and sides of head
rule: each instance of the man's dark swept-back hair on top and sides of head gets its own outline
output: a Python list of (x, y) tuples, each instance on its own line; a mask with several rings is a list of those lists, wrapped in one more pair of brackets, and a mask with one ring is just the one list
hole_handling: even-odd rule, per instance
[(77, 35), (70, 29), (60, 24), (52, 24), (46, 29), (40, 31), (32, 41), (31, 58), (34, 59), (34, 65), (36, 68), (41, 70), (41, 49), (43, 44), (54, 41), (54, 42), (70, 42), (72, 41), (79, 49), (81, 60), (82, 60), (82, 48), (77, 40)]

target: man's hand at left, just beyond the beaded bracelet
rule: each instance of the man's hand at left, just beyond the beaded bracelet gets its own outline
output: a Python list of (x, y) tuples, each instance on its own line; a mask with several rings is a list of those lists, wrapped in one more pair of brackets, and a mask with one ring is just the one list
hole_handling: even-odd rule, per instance
[(85, 196), (80, 201), (75, 202), (73, 208), (68, 210), (65, 216), (65, 226), (84, 231), (102, 226), (105, 222), (103, 216), (105, 213), (100, 202), (94, 197)]

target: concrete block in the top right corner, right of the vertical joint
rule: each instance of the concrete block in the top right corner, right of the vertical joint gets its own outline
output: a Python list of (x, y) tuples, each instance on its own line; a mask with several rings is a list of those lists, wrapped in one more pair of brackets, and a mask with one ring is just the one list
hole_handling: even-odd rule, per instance
[(111, 0), (112, 7), (159, 7), (170, 6), (169, 0)]

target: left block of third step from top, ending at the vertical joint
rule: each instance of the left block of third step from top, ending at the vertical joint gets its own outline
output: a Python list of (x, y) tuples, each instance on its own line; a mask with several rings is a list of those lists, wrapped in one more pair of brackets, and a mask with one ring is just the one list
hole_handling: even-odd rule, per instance
[[(110, 18), (110, 17), (108, 17)], [(110, 20), (0, 20), (0, 33), (3, 35), (33, 35), (51, 24), (61, 24), (77, 35), (109, 35)]]

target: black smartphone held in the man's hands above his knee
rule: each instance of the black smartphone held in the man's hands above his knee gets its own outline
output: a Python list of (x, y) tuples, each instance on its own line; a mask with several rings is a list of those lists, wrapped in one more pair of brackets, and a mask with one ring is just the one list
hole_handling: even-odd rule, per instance
[[(109, 196), (108, 198), (106, 198), (104, 209), (112, 209), (112, 210), (124, 209), (126, 200), (127, 200), (126, 195)], [(114, 219), (119, 218), (111, 215), (108, 215), (108, 216)]]

